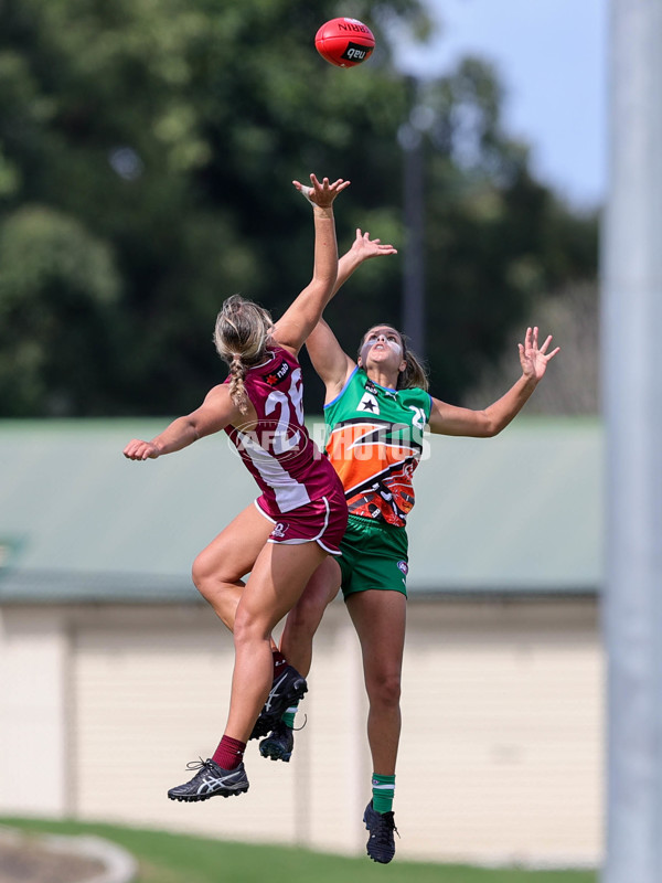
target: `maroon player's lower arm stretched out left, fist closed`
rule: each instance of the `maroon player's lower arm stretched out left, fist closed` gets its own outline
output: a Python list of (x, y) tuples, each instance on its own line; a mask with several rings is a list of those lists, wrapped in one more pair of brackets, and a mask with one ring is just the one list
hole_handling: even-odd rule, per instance
[(129, 460), (156, 460), (162, 454), (181, 450), (199, 438), (217, 433), (241, 418), (238, 407), (229, 397), (229, 389), (226, 384), (220, 384), (210, 390), (202, 405), (191, 414), (172, 421), (170, 426), (151, 442), (134, 438), (122, 453)]

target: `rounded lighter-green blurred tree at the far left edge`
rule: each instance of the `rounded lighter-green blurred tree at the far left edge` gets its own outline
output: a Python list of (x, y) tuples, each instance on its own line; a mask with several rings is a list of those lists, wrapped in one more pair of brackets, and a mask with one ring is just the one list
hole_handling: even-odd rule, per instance
[(104, 413), (120, 279), (77, 220), (25, 206), (0, 228), (0, 402), (12, 416)]

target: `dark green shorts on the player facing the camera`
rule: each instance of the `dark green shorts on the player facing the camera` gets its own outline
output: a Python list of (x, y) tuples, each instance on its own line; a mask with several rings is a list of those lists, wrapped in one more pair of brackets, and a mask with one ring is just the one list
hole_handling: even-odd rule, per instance
[(337, 558), (342, 594), (381, 588), (407, 596), (407, 531), (383, 522), (350, 515)]

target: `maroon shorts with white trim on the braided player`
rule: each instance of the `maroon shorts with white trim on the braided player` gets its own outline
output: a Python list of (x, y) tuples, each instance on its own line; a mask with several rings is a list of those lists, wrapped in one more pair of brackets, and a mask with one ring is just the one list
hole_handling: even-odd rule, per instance
[(319, 500), (284, 512), (278, 515), (278, 520), (265, 512), (260, 504), (261, 499), (258, 497), (255, 504), (274, 524), (269, 543), (297, 545), (316, 542), (330, 555), (341, 554), (340, 541), (348, 526), (348, 504), (341, 490), (333, 489)]

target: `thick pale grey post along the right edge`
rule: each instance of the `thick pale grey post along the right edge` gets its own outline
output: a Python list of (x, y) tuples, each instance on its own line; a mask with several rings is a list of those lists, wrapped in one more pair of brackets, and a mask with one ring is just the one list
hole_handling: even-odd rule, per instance
[(602, 883), (662, 881), (662, 0), (611, 0)]

